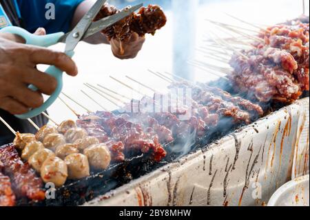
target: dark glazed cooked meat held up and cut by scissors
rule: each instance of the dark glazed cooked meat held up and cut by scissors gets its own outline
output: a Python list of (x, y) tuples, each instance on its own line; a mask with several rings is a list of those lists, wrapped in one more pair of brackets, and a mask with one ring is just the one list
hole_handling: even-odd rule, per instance
[[(123, 10), (128, 9), (125, 8)], [(95, 21), (109, 17), (113, 14), (121, 12), (114, 6), (105, 3), (101, 11), (95, 18)], [(136, 32), (140, 37), (145, 34), (155, 34), (165, 26), (167, 18), (159, 6), (149, 5), (147, 8), (143, 7), (138, 13), (132, 13), (129, 17), (118, 21), (118, 23), (103, 30), (103, 34), (111, 40), (117, 39), (119, 41), (128, 41), (133, 32)]]

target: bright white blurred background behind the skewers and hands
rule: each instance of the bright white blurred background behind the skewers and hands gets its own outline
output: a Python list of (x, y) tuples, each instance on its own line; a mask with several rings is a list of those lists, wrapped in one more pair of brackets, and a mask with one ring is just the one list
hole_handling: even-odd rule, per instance
[[(141, 94), (135, 94), (131, 89), (110, 79), (110, 75), (124, 81), (136, 90), (143, 91), (143, 94), (149, 95), (152, 95), (152, 91), (139, 87), (126, 79), (125, 76), (128, 75), (159, 91), (165, 91), (168, 83), (147, 72), (148, 69), (174, 72), (195, 81), (205, 82), (217, 79), (218, 77), (188, 64), (188, 61), (193, 59), (213, 62), (198, 50), (206, 40), (208, 32), (217, 32), (206, 19), (249, 28), (245, 23), (231, 19), (225, 13), (249, 23), (264, 26), (295, 19), (302, 14), (302, 0), (110, 0), (108, 2), (117, 8), (141, 2), (145, 6), (149, 3), (158, 4), (165, 10), (168, 22), (162, 30), (156, 32), (154, 37), (146, 37), (143, 50), (136, 59), (125, 61), (116, 59), (112, 55), (110, 46), (107, 45), (79, 44), (74, 56), (74, 60), (79, 66), (79, 76), (74, 78), (65, 76), (63, 91), (92, 111), (102, 110), (101, 106), (114, 110), (117, 106), (83, 86), (83, 83), (92, 83), (93, 85), (99, 83), (118, 93), (141, 98)], [(309, 15), (309, 0), (305, 2), (305, 14)], [(57, 45), (55, 48), (63, 49), (61, 45)], [(87, 98), (81, 90), (101, 103), (101, 106)], [(85, 112), (81, 106), (69, 99), (66, 100), (76, 112), (80, 114)], [(74, 114), (60, 101), (57, 101), (49, 112), (56, 121), (74, 119)]]

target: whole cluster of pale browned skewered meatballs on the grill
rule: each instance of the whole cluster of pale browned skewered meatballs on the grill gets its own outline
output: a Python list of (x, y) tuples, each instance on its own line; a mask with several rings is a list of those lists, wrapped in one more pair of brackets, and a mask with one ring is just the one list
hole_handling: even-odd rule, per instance
[[(43, 140), (43, 143), (36, 137)], [(81, 179), (89, 176), (92, 164), (95, 165), (94, 169), (110, 165), (110, 152), (103, 152), (102, 146), (93, 148), (89, 157), (80, 153), (98, 144), (98, 139), (88, 137), (86, 130), (78, 128), (72, 120), (63, 121), (58, 128), (43, 126), (35, 136), (17, 133), (14, 139), (14, 147), (21, 150), (21, 158), (28, 160), (32, 168), (41, 173), (45, 183), (52, 182), (56, 187), (63, 186), (67, 178)], [(96, 151), (98, 154), (94, 157)]]

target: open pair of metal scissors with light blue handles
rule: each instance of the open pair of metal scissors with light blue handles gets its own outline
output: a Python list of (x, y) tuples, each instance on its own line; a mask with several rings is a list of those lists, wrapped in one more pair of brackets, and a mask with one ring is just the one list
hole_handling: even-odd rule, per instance
[[(41, 47), (49, 47), (56, 43), (65, 43), (65, 54), (69, 57), (73, 57), (74, 55), (74, 48), (77, 46), (79, 41), (96, 34), (97, 32), (101, 32), (105, 28), (112, 26), (114, 23), (121, 21), (125, 17), (128, 17), (132, 12), (138, 10), (143, 6), (143, 4), (139, 4), (127, 10), (123, 10), (117, 14), (114, 14), (110, 17), (105, 17), (99, 21), (93, 22), (96, 15), (101, 10), (102, 6), (104, 5), (106, 0), (98, 0), (92, 6), (92, 8), (83, 16), (81, 21), (76, 25), (76, 27), (67, 34), (63, 32), (58, 32), (54, 34), (48, 34), (45, 36), (37, 36), (34, 34), (30, 34), (27, 30), (19, 27), (6, 27), (0, 30), (0, 32), (6, 32), (11, 34), (17, 34), (20, 37), (25, 39), (25, 43), (34, 46), (41, 46)], [(57, 87), (54, 93), (43, 103), (42, 106), (39, 108), (31, 109), (29, 112), (25, 114), (18, 114), (15, 115), (19, 119), (29, 119), (32, 117), (36, 117), (37, 115), (41, 114), (45, 110), (47, 110), (54, 101), (59, 97), (61, 90), (63, 88), (63, 72), (56, 68), (55, 66), (50, 66), (47, 70), (45, 70), (46, 74), (50, 74), (52, 77), (56, 78), (57, 80)], [(29, 88), (31, 90), (37, 91), (38, 89), (30, 85)]]

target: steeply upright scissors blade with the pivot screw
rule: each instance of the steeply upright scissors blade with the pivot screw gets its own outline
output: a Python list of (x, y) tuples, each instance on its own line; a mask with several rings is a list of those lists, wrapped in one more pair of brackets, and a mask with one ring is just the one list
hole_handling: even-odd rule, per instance
[(86, 14), (84, 14), (81, 21), (79, 21), (75, 28), (68, 34), (68, 37), (66, 37), (65, 39), (65, 52), (74, 50), (79, 41), (81, 41), (85, 32), (87, 32), (88, 28), (90, 28), (92, 21), (101, 10), (105, 1), (107, 0), (96, 1), (96, 3), (94, 3), (94, 6), (92, 6), (92, 8), (90, 8), (90, 10)]

